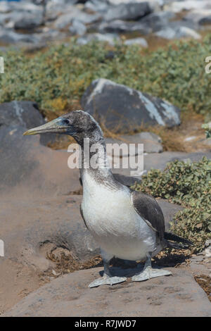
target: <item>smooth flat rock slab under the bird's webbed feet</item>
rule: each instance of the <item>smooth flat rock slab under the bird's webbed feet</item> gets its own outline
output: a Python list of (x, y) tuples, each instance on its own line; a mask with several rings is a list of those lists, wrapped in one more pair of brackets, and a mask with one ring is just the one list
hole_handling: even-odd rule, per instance
[(40, 287), (3, 316), (211, 316), (210, 301), (191, 273), (169, 269), (172, 276), (93, 289), (88, 285), (102, 268), (76, 271)]

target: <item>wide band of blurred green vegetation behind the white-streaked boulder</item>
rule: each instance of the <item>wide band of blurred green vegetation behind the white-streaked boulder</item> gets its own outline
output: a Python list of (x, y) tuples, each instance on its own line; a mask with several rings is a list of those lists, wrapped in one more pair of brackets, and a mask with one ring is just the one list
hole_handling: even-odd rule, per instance
[(58, 115), (78, 108), (91, 81), (104, 77), (208, 118), (211, 74), (205, 73), (205, 58), (211, 54), (211, 35), (203, 43), (175, 42), (153, 52), (117, 44), (114, 58), (108, 58), (109, 49), (98, 42), (79, 46), (73, 40), (34, 56), (9, 51), (0, 75), (0, 102), (33, 100), (44, 113)]

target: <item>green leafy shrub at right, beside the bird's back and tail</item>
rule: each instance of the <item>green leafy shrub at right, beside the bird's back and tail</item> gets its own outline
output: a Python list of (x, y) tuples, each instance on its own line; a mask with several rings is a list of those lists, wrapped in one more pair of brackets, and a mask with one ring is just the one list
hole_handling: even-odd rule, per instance
[(205, 240), (211, 238), (211, 161), (206, 157), (193, 163), (173, 161), (163, 172), (149, 171), (133, 189), (184, 206), (174, 216), (171, 230), (190, 239), (195, 251), (204, 249)]

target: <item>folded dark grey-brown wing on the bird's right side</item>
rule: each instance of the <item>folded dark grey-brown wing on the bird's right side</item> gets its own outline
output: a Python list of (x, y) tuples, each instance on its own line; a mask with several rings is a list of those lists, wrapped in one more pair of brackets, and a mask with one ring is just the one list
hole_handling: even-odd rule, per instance
[(136, 212), (145, 220), (151, 229), (157, 232), (162, 241), (165, 232), (165, 220), (158, 202), (148, 194), (132, 191), (132, 205)]

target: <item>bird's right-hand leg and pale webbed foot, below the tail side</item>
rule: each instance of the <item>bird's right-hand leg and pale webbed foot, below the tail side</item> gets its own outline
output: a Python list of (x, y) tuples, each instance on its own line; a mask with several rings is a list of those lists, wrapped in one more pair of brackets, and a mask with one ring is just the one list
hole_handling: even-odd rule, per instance
[(143, 270), (138, 275), (132, 277), (133, 282), (142, 282), (143, 280), (149, 280), (154, 277), (172, 275), (171, 271), (164, 269), (153, 269), (151, 264), (152, 253), (149, 252), (146, 255), (146, 263)]

